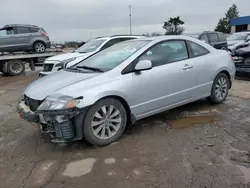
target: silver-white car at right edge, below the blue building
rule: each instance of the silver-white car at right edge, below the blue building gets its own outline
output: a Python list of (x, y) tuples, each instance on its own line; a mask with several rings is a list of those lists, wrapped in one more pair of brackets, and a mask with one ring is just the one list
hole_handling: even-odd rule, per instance
[(227, 38), (228, 50), (232, 53), (247, 43), (250, 43), (250, 31), (234, 33)]

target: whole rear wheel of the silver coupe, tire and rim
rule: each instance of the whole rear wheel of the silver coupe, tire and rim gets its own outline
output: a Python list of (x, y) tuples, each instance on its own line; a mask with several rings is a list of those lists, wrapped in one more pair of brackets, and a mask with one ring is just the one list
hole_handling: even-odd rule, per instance
[(213, 104), (221, 104), (227, 98), (230, 81), (225, 73), (219, 73), (214, 79), (209, 100)]

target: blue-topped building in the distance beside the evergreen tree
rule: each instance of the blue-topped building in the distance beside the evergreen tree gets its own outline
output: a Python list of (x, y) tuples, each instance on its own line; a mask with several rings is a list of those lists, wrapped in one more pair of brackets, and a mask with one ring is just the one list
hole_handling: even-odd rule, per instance
[(243, 16), (238, 18), (233, 18), (231, 20), (231, 33), (250, 31), (250, 16)]

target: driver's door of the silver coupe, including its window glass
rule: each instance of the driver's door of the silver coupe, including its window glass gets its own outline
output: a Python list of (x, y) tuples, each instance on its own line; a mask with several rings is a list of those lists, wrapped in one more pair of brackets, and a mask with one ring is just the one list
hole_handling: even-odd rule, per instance
[(147, 50), (140, 60), (150, 60), (151, 70), (134, 73), (134, 102), (137, 118), (147, 117), (168, 107), (191, 100), (195, 95), (196, 76), (185, 41), (164, 41)]

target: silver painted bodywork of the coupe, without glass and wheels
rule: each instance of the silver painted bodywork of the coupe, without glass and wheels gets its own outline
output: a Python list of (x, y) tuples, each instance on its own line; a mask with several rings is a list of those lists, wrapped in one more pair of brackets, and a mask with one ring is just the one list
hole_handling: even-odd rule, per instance
[[(173, 39), (193, 41), (210, 53), (153, 67), (140, 74), (121, 74), (124, 68), (148, 48), (158, 42)], [(91, 106), (104, 97), (117, 96), (127, 102), (131, 113), (139, 120), (209, 96), (213, 80), (221, 71), (227, 71), (231, 79), (234, 78), (235, 66), (226, 51), (216, 50), (202, 41), (185, 36), (164, 36), (150, 40), (108, 72), (75, 73), (62, 70), (33, 82), (24, 93), (36, 100), (44, 100), (51, 95), (70, 95), (75, 98), (82, 96), (83, 102), (78, 104), (78, 108)], [(186, 65), (192, 66), (192, 69), (186, 70)]]

